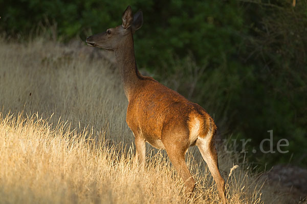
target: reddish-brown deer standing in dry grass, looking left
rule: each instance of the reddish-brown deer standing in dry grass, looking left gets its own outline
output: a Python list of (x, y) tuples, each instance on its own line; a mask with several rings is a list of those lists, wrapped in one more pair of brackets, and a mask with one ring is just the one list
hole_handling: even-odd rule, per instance
[(214, 141), (216, 125), (200, 105), (139, 72), (133, 34), (142, 25), (143, 12), (139, 10), (133, 15), (128, 6), (122, 15), (121, 25), (85, 40), (89, 46), (115, 53), (128, 100), (126, 123), (135, 137), (135, 158), (140, 164), (144, 163), (146, 142), (165, 149), (172, 166), (184, 181), (185, 192), (191, 195), (195, 180), (186, 165), (185, 155), (190, 146), (198, 146), (222, 203), (226, 204), (225, 181), (218, 169)]

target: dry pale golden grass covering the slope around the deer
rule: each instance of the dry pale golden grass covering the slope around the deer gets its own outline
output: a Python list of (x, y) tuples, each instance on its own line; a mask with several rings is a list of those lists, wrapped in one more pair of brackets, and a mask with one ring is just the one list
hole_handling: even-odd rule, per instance
[[(147, 145), (146, 166), (136, 164), (119, 76), (87, 57), (91, 49), (40, 38), (0, 43), (0, 203), (219, 202), (195, 147), (191, 200), (165, 151)], [(287, 203), (247, 164), (219, 157), (229, 203)]]

